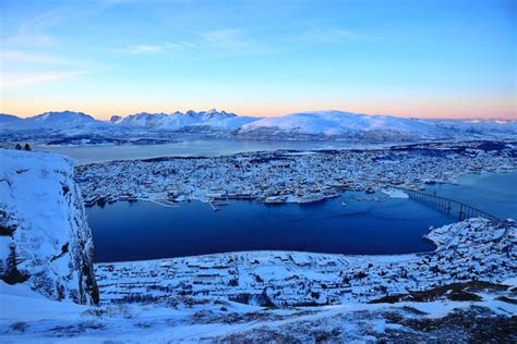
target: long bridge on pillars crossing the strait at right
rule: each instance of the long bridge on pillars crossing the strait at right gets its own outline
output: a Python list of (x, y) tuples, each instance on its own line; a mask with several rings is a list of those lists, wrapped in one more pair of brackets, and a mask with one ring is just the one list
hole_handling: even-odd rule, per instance
[(495, 222), (502, 221), (498, 217), (492, 213), (471, 207), (458, 200), (454, 200), (450, 198), (441, 197), (436, 195), (431, 195), (431, 194), (426, 194), (426, 193), (422, 193), (422, 192), (418, 192), (418, 191), (409, 189), (409, 188), (400, 187), (400, 189), (405, 192), (406, 194), (408, 194), (409, 198), (411, 199), (418, 200), (422, 204), (436, 208), (440, 211), (443, 211), (447, 214), (457, 216), (459, 221), (462, 221), (465, 219), (470, 219), (470, 218), (484, 218), (484, 219), (495, 221)]

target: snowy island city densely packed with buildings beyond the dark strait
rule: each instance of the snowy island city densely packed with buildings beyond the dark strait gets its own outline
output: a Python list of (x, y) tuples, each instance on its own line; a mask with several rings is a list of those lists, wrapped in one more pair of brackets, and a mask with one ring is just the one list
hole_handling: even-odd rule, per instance
[(464, 173), (517, 168), (510, 145), (432, 144), (372, 150), (245, 152), (110, 161), (76, 169), (86, 206), (147, 199), (311, 202), (342, 191), (424, 189)]

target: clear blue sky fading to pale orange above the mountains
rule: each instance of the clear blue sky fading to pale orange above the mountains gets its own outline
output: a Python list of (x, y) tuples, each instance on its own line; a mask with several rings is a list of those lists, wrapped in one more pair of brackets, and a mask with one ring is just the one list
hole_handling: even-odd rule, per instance
[(517, 119), (513, 0), (1, 0), (0, 112)]

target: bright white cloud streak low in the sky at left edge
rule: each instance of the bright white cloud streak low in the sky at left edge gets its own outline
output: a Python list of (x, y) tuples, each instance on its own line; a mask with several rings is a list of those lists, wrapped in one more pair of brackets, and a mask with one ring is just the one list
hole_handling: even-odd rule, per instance
[(2, 87), (12, 88), (43, 83), (50, 83), (63, 79), (70, 79), (83, 74), (86, 71), (65, 71), (65, 72), (37, 72), (37, 73), (2, 73)]

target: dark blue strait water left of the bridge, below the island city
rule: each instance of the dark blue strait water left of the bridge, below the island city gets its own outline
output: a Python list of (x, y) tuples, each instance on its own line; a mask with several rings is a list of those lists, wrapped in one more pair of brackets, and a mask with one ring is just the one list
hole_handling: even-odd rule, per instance
[[(414, 200), (357, 200), (362, 193), (311, 205), (266, 206), (231, 201), (180, 208), (125, 201), (87, 209), (96, 260), (123, 261), (202, 254), (281, 249), (335, 254), (402, 254), (431, 250), (421, 239), (430, 225), (454, 222)], [(348, 204), (341, 206), (341, 201)]]

